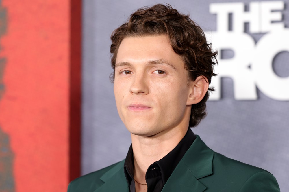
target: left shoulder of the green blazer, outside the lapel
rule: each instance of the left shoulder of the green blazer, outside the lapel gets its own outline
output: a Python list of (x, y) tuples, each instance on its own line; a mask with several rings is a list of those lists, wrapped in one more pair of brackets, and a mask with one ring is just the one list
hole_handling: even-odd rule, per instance
[(115, 167), (123, 166), (124, 161), (117, 162), (100, 170), (91, 172), (89, 174), (80, 176), (68, 185), (68, 192), (80, 192), (80, 191), (94, 191), (104, 182), (100, 179), (106, 172), (112, 170)]

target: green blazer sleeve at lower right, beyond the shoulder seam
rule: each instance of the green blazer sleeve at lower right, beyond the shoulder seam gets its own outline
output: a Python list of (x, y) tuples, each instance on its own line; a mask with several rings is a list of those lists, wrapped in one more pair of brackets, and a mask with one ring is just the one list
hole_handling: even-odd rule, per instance
[(242, 186), (240, 192), (262, 191), (280, 192), (280, 188), (275, 177), (266, 171), (253, 174)]

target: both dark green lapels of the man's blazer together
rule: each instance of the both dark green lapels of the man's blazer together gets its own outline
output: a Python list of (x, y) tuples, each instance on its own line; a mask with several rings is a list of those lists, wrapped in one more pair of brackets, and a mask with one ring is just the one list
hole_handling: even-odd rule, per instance
[[(197, 138), (171, 174), (162, 191), (202, 192), (207, 189), (198, 179), (213, 174), (214, 151), (207, 147), (198, 135), (196, 136)], [(129, 191), (123, 170), (124, 161), (119, 162), (101, 176), (100, 179), (104, 184), (94, 192)]]

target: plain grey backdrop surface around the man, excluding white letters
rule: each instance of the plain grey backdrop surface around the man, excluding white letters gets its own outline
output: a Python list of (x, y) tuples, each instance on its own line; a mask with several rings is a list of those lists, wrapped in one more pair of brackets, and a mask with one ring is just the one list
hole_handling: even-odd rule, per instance
[[(209, 13), (209, 4), (235, 1), (167, 2), (180, 12), (190, 13), (205, 31), (215, 31), (216, 15)], [(289, 5), (289, 0), (284, 2)], [(113, 85), (109, 81), (112, 72), (110, 34), (134, 10), (155, 3), (164, 2), (83, 1), (82, 174), (126, 156), (130, 134), (118, 117)], [(288, 8), (283, 14), (289, 26)], [(262, 35), (252, 36), (258, 41)], [(275, 60), (275, 71), (280, 76), (289, 76), (288, 59), (289, 54), (285, 53)], [(260, 91), (258, 100), (237, 101), (233, 86), (231, 79), (222, 79), (221, 100), (207, 103), (208, 116), (193, 131), (214, 151), (270, 171), (277, 178), (281, 191), (289, 191), (289, 101), (273, 100)]]

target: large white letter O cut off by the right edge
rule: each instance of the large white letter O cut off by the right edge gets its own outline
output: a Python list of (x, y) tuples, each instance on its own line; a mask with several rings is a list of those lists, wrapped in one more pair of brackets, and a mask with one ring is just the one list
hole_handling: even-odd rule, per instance
[[(288, 29), (265, 34), (255, 46), (251, 67), (255, 83), (260, 91), (266, 96), (280, 101), (289, 100), (289, 77), (276, 75), (272, 63), (276, 54), (289, 51), (288, 37)], [(289, 64), (289, 61), (286, 61), (285, 64)]]

